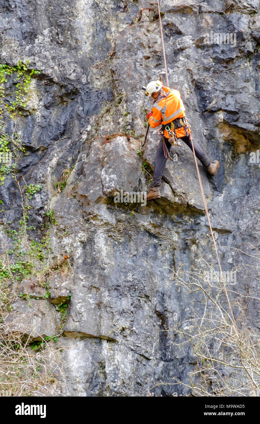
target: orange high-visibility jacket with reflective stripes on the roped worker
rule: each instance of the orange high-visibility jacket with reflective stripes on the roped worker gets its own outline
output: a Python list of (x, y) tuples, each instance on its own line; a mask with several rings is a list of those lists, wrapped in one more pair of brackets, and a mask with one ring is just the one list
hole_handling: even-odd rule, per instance
[[(165, 125), (172, 122), (176, 118), (182, 118), (185, 116), (185, 107), (181, 100), (181, 93), (178, 90), (171, 90), (168, 87), (163, 87), (163, 90), (167, 94), (166, 112), (164, 113), (164, 106), (166, 103), (165, 95), (159, 95), (156, 102), (153, 103), (152, 112), (153, 116), (149, 118), (149, 124), (152, 128), (156, 128), (159, 125)], [(178, 138), (185, 136), (184, 128), (175, 129), (176, 136)], [(189, 130), (188, 130), (189, 133)], [(170, 138), (168, 131), (164, 131), (164, 136)]]

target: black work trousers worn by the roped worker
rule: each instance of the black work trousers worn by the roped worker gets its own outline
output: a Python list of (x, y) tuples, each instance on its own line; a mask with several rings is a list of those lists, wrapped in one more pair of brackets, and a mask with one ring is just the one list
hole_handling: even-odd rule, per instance
[[(155, 158), (155, 164), (154, 164), (154, 170), (153, 170), (152, 187), (161, 186), (161, 177), (162, 177), (162, 174), (164, 172), (164, 167), (165, 167), (166, 162), (167, 162), (167, 158), (164, 156), (163, 139), (164, 139), (164, 142), (166, 144), (166, 147), (167, 147), (167, 150), (168, 150), (169, 153), (170, 153), (170, 149), (172, 147), (172, 145), (169, 143), (168, 139), (164, 136), (161, 136), (161, 140), (159, 141), (159, 144), (158, 144), (157, 150), (156, 150), (156, 158)], [(191, 143), (191, 140), (189, 139), (189, 136), (180, 137), (180, 138), (178, 138), (178, 140), (182, 140), (192, 150), (192, 143)], [(193, 142), (193, 146), (194, 146), (195, 155), (200, 160), (200, 162), (203, 164), (203, 166), (207, 167), (208, 165), (210, 165), (211, 162), (208, 159), (208, 157), (205, 155), (205, 152), (200, 147), (200, 145), (195, 140), (192, 140), (192, 142)], [(192, 152), (193, 152), (193, 150), (192, 150)], [(168, 155), (167, 155), (167, 157), (168, 157)]]

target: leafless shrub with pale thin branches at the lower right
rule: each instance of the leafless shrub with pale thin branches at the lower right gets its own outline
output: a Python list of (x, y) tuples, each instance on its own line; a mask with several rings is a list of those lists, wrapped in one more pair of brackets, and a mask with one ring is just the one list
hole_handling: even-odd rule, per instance
[[(213, 279), (208, 278), (210, 270)], [(246, 293), (236, 291), (205, 261), (190, 271), (182, 265), (173, 272), (175, 283), (192, 295), (192, 312), (174, 329), (174, 343), (192, 347), (197, 358), (189, 382), (175, 380), (175, 384), (190, 388), (193, 396), (259, 396), (260, 333), (247, 313), (250, 303), (260, 306), (257, 293), (249, 287)], [(246, 275), (244, 270), (241, 275)]]

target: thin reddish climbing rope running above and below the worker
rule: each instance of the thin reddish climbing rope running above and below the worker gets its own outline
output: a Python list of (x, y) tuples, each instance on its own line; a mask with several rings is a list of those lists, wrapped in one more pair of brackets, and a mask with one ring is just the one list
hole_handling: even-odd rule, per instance
[[(167, 65), (166, 65), (166, 58), (165, 58), (165, 50), (164, 50), (164, 40), (163, 40), (163, 33), (162, 33), (162, 26), (161, 26), (161, 14), (160, 14), (159, 0), (157, 0), (157, 3), (158, 3), (158, 13), (159, 13), (160, 30), (161, 30), (161, 45), (162, 45), (165, 72), (166, 72), (166, 81), (167, 81), (167, 87), (169, 87)], [(190, 125), (189, 125), (189, 127), (190, 127)], [(211, 220), (210, 220), (209, 215), (208, 215), (208, 208), (207, 208), (207, 204), (206, 204), (206, 199), (205, 199), (205, 195), (204, 195), (202, 182), (201, 182), (201, 179), (200, 179), (200, 171), (199, 171), (199, 167), (198, 167), (198, 164), (197, 164), (197, 159), (196, 159), (196, 155), (195, 155), (195, 151), (194, 151), (194, 146), (193, 146), (193, 142), (192, 142), (192, 132), (191, 131), (189, 133), (189, 139), (192, 143), (192, 151), (193, 151), (194, 160), (195, 160), (195, 164), (196, 164), (198, 179), (200, 181), (200, 190), (201, 190), (201, 194), (202, 194), (202, 198), (203, 198), (203, 203), (204, 203), (204, 206), (205, 206), (206, 215), (207, 215), (207, 218), (208, 218), (208, 224), (209, 224), (209, 228), (210, 228), (210, 232), (211, 232), (211, 237), (212, 237), (212, 240), (213, 240), (213, 245), (214, 245), (214, 248), (215, 248), (215, 251), (216, 251), (217, 261), (218, 261), (218, 264), (219, 264), (220, 279), (221, 279), (221, 282), (223, 284), (225, 295), (227, 297), (227, 303), (228, 303), (228, 306), (229, 306), (229, 309), (230, 309), (230, 313), (231, 313), (232, 320), (233, 320), (233, 323), (234, 323), (234, 326), (235, 326), (235, 330), (238, 333), (238, 329), (237, 329), (236, 324), (235, 324), (235, 318), (234, 318), (234, 315), (233, 315), (233, 312), (232, 312), (232, 309), (231, 309), (231, 305), (230, 305), (230, 301), (229, 301), (229, 298), (228, 298), (226, 285), (225, 285), (225, 282), (224, 282), (224, 279), (223, 279), (222, 268), (221, 268), (221, 265), (220, 265), (219, 255), (218, 255), (218, 251), (217, 251), (217, 248), (216, 248), (216, 242), (215, 242), (214, 234), (213, 234), (213, 231), (212, 231)]]

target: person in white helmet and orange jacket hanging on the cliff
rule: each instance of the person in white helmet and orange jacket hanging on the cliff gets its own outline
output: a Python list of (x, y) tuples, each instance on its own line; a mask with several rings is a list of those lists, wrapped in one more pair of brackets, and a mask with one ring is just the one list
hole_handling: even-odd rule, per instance
[(195, 140), (191, 142), (191, 131), (185, 117), (185, 107), (180, 92), (165, 87), (161, 81), (157, 80), (151, 81), (146, 86), (145, 95), (154, 99), (152, 110), (147, 115), (150, 126), (155, 128), (161, 125), (161, 140), (156, 150), (153, 181), (146, 199), (152, 200), (161, 197), (161, 177), (167, 158), (170, 157), (170, 148), (172, 145), (179, 145), (178, 139), (186, 143), (191, 150), (193, 142), (196, 157), (210, 175), (216, 175), (219, 161), (211, 162), (200, 145)]

